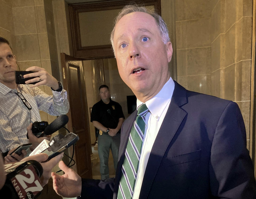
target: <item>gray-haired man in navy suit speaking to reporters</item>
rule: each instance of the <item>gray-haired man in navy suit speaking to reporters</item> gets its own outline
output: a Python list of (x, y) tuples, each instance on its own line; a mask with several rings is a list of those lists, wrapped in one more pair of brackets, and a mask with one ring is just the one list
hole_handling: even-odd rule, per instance
[[(142, 104), (149, 109), (135, 185), (126, 198), (256, 198), (238, 105), (188, 91), (170, 78), (173, 50), (162, 18), (126, 6), (111, 42), (119, 74), (137, 97), (137, 109)], [(65, 175), (52, 174), (55, 191), (66, 197), (124, 198), (120, 179), (136, 117), (137, 110), (123, 123), (115, 179), (81, 179), (60, 162)]]

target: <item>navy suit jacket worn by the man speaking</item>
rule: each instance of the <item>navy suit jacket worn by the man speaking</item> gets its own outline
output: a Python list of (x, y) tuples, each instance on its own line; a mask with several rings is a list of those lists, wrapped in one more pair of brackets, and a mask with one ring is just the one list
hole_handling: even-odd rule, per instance
[[(82, 198), (117, 198), (124, 152), (136, 116), (137, 111), (122, 126), (115, 180), (83, 179)], [(238, 105), (188, 91), (175, 82), (139, 198), (256, 198)]]

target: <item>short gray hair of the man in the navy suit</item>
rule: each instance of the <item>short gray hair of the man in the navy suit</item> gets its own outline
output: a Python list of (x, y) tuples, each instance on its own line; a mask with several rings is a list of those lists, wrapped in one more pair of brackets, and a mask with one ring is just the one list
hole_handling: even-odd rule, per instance
[(115, 33), (115, 26), (117, 25), (117, 23), (123, 16), (125, 16), (129, 13), (132, 13), (132, 12), (145, 12), (145, 13), (153, 16), (155, 19), (155, 22), (157, 23), (157, 26), (159, 28), (163, 43), (166, 44), (168, 41), (170, 41), (166, 23), (164, 22), (164, 20), (162, 19), (162, 17), (159, 14), (157, 14), (154, 10), (146, 9), (146, 7), (139, 7), (137, 4), (131, 4), (131, 5), (127, 5), (127, 6), (123, 7), (121, 12), (119, 12), (118, 16), (115, 18), (114, 28), (113, 28), (113, 30), (111, 32), (111, 36), (110, 36), (110, 41), (112, 44), (114, 55), (115, 55), (115, 49), (114, 49), (113, 39), (114, 39), (114, 33)]

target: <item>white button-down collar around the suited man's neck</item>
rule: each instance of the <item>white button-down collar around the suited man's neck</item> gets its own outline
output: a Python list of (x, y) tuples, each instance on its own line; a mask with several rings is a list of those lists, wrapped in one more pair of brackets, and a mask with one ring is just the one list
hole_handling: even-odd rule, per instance
[[(170, 79), (163, 85), (162, 89), (156, 94), (153, 98), (146, 101), (147, 108), (149, 109), (151, 115), (155, 118), (155, 120), (159, 120), (161, 117), (165, 107), (171, 100), (174, 91), (174, 81), (170, 77)], [(140, 100), (137, 99), (137, 110), (139, 106), (144, 104)]]

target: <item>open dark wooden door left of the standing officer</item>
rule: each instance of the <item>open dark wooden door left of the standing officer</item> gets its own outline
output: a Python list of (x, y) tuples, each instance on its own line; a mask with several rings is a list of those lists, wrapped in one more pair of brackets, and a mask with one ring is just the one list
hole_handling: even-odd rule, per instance
[(70, 103), (67, 125), (70, 131), (79, 136), (79, 141), (75, 144), (76, 167), (73, 169), (82, 178), (92, 178), (90, 126), (82, 60), (61, 53), (63, 87), (67, 90)]

